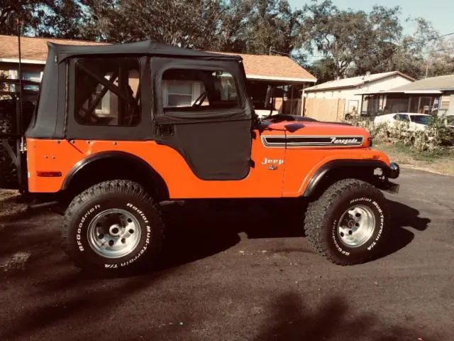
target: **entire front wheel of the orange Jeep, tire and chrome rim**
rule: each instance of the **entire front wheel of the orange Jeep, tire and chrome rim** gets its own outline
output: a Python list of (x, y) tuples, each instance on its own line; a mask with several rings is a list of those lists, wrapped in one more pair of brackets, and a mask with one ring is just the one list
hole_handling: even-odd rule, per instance
[(305, 228), (313, 249), (340, 265), (372, 259), (389, 228), (384, 195), (369, 183), (344, 179), (331, 185), (306, 211)]

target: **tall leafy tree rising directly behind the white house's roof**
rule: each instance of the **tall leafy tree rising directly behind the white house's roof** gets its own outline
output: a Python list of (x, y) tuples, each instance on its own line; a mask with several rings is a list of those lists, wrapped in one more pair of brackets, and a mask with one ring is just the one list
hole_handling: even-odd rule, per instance
[(333, 60), (334, 77), (389, 69), (389, 56), (402, 37), (399, 7), (374, 6), (370, 13), (341, 11), (325, 0), (313, 1), (305, 11), (305, 27), (311, 35), (306, 48)]

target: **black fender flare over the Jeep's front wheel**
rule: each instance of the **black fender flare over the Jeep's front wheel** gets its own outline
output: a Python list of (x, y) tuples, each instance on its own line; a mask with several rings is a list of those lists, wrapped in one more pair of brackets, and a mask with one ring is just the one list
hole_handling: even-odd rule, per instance
[[(312, 175), (311, 180), (306, 186), (304, 190), (303, 197), (309, 197), (314, 194), (316, 188), (320, 184), (323, 177), (329, 171), (333, 171), (333, 169), (339, 168), (380, 168), (384, 175), (389, 176), (393, 174), (393, 169), (380, 160), (333, 160), (328, 161), (327, 163), (323, 164), (315, 173)], [(394, 178), (394, 177), (393, 177)], [(396, 176), (397, 178), (397, 176)]]

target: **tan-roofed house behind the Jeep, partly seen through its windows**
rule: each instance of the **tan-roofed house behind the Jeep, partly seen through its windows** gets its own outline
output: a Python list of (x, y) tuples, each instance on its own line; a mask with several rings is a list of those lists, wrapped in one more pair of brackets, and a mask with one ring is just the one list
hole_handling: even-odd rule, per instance
[[(52, 38), (21, 38), (21, 63), (23, 80), (40, 82), (43, 77), (45, 58), (47, 57), (47, 42), (64, 45), (104, 45), (83, 40), (67, 40)], [(16, 36), (0, 35), (0, 72), (14, 80), (18, 78), (18, 39)], [(270, 112), (265, 104), (267, 90), (271, 86), (275, 89), (275, 108), (277, 111), (301, 114), (301, 90), (316, 82), (316, 78), (294, 60), (283, 55), (245, 55), (243, 58), (248, 90), (253, 97), (254, 106), (258, 112)], [(134, 75), (130, 75), (133, 79)], [(133, 82), (133, 81), (132, 81)], [(16, 85), (10, 85), (11, 91)], [(134, 88), (134, 87), (133, 87)], [(37, 85), (24, 85), (23, 97), (35, 102), (38, 92)], [(99, 89), (101, 92), (101, 89)], [(172, 105), (187, 105), (194, 103), (203, 92), (200, 85), (194, 82), (173, 81), (165, 84), (163, 93), (164, 103)], [(111, 111), (115, 105), (115, 98), (108, 93), (100, 107), (99, 113)]]

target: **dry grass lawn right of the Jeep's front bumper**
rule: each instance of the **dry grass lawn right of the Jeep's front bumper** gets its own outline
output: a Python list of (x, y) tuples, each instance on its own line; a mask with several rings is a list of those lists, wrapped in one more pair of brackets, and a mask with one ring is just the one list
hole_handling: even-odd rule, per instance
[(435, 153), (417, 153), (404, 144), (374, 143), (374, 148), (387, 153), (391, 161), (402, 165), (423, 168), (427, 171), (454, 175), (454, 148), (446, 148)]

